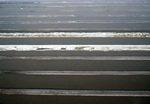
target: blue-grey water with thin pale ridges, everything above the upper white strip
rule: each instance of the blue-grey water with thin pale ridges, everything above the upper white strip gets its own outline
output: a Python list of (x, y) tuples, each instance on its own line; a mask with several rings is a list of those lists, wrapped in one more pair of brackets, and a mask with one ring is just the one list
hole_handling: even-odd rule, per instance
[(0, 32), (150, 31), (150, 0), (0, 0)]

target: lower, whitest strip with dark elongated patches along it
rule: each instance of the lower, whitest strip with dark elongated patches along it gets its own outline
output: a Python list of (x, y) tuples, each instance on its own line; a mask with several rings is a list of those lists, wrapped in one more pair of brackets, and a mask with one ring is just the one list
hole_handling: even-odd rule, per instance
[(0, 45), (0, 51), (150, 51), (150, 45)]

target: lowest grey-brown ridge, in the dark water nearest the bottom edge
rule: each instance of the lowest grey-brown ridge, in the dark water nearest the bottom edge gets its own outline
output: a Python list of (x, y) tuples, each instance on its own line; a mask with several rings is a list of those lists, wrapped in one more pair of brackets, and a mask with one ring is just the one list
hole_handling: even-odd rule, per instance
[(150, 91), (124, 90), (53, 90), (53, 89), (0, 89), (3, 95), (47, 95), (47, 96), (128, 96), (150, 97)]

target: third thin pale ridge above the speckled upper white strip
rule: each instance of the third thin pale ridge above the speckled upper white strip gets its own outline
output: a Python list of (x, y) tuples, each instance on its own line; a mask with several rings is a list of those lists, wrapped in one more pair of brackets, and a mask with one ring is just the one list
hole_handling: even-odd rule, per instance
[[(56, 18), (56, 17), (150, 17), (150, 15), (1, 15), (0, 18)], [(94, 20), (95, 21), (95, 20)]]

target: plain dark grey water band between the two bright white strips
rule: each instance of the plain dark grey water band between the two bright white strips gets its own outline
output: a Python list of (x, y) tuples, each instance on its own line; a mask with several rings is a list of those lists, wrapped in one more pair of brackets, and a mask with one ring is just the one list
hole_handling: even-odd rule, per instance
[(149, 45), (149, 38), (0, 38), (1, 45)]

